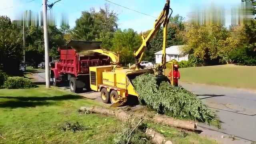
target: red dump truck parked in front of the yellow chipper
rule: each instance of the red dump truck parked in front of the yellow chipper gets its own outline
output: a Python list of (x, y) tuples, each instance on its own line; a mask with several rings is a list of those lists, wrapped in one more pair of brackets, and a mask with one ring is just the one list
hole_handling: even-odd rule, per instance
[(90, 89), (89, 67), (110, 65), (111, 62), (111, 58), (105, 54), (88, 53), (88, 50), (101, 49), (101, 44), (96, 41), (70, 40), (66, 46), (59, 47), (60, 58), (51, 64), (50, 70), (53, 85), (68, 82), (71, 92), (76, 93), (83, 88)]

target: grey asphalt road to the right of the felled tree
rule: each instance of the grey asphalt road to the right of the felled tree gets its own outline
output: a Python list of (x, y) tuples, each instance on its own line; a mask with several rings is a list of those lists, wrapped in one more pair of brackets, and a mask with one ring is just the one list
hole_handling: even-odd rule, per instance
[(181, 85), (197, 94), (222, 121), (220, 130), (203, 124), (199, 126), (256, 141), (256, 92), (204, 84)]

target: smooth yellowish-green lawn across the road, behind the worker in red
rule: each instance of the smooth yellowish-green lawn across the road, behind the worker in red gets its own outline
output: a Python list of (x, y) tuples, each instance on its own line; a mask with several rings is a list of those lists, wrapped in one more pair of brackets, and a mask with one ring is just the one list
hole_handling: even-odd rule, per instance
[(256, 66), (206, 66), (180, 68), (181, 81), (256, 89)]

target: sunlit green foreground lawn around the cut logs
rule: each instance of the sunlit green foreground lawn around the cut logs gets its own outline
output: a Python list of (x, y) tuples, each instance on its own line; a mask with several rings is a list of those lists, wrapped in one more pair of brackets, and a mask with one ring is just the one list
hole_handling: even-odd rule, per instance
[[(124, 126), (114, 117), (100, 114), (80, 114), (81, 106), (101, 106), (58, 88), (44, 86), (24, 90), (0, 90), (0, 144), (112, 144)], [(90, 129), (64, 132), (65, 122), (79, 122)], [(150, 123), (176, 144), (216, 144), (214, 140), (189, 132), (183, 137), (180, 130)]]

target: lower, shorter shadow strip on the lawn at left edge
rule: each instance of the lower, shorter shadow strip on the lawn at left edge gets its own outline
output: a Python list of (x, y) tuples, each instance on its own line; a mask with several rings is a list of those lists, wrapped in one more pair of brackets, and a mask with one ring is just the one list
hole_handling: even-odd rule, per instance
[(6, 102), (0, 102), (0, 108), (36, 107), (36, 106), (44, 106), (44, 105), (51, 105), (51, 104), (54, 104), (54, 102), (6, 101)]

